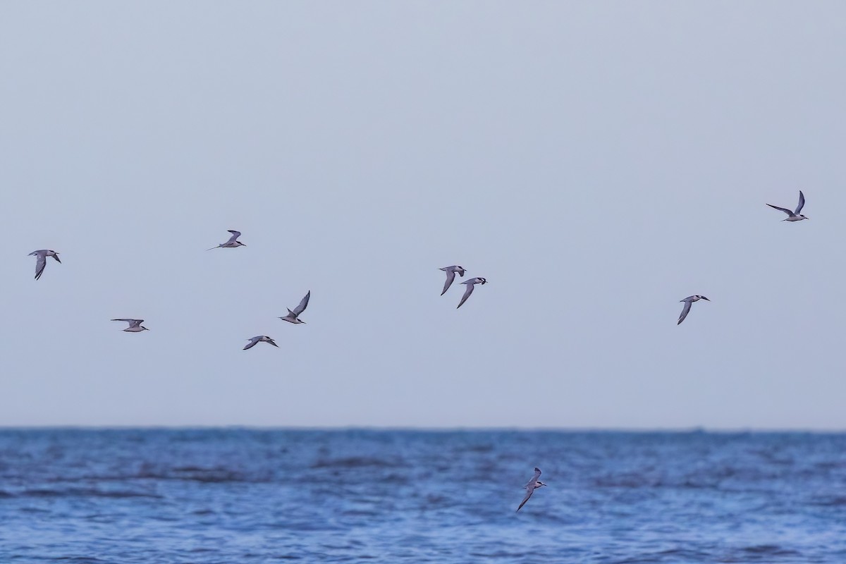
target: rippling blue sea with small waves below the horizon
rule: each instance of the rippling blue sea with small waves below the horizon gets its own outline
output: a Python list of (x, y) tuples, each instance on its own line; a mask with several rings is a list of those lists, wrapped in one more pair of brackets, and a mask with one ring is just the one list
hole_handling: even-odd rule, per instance
[(843, 563), (846, 435), (2, 430), (0, 562), (53, 561)]

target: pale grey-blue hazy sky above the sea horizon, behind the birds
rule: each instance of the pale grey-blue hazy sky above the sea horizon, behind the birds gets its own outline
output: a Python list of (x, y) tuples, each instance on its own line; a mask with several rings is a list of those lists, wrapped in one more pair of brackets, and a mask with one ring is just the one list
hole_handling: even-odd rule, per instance
[(0, 424), (846, 428), (844, 67), (839, 2), (3, 3)]

